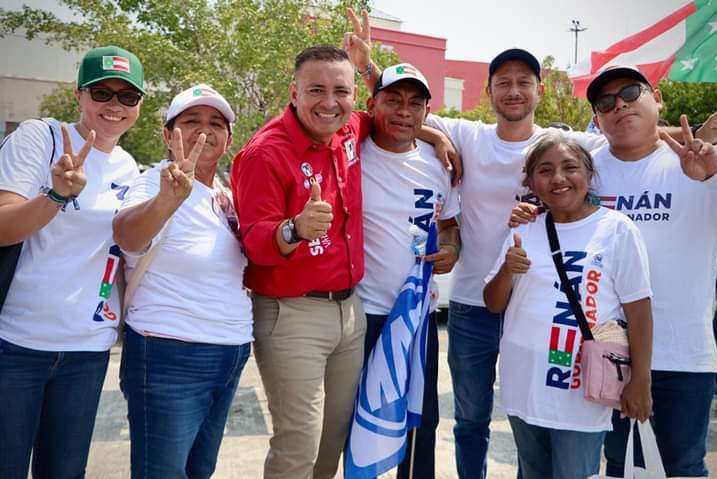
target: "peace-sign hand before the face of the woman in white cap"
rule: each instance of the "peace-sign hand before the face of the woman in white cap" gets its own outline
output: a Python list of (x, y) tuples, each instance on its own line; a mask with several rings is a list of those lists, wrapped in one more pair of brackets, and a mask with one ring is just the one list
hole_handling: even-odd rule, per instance
[(194, 168), (197, 165), (199, 155), (202, 153), (206, 139), (207, 135), (204, 133), (199, 135), (189, 156), (185, 158), (182, 132), (179, 128), (174, 129), (169, 145), (174, 161), (164, 168), (160, 174), (159, 196), (161, 198), (175, 205), (181, 204), (187, 199), (192, 192)]

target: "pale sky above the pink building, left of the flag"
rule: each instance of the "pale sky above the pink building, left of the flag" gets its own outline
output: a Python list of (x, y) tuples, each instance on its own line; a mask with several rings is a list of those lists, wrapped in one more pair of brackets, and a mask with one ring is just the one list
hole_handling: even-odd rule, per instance
[(590, 51), (656, 23), (687, 0), (374, 0), (373, 8), (403, 20), (402, 31), (445, 38), (446, 58), (489, 62), (520, 47), (556, 66), (574, 63), (571, 20), (587, 30), (578, 35), (578, 62)]

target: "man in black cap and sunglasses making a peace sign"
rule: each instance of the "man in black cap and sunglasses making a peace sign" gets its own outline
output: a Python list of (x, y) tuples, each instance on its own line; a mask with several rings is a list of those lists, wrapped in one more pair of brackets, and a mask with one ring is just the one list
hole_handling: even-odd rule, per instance
[[(601, 203), (638, 226), (650, 260), (654, 336), (653, 426), (668, 477), (706, 477), (717, 347), (711, 334), (717, 271), (717, 153), (692, 136), (684, 146), (661, 132), (659, 90), (635, 67), (598, 74), (587, 97), (608, 145), (594, 152)], [(662, 138), (661, 141), (660, 138)], [(633, 377), (633, 381), (636, 378)], [(607, 475), (622, 477), (629, 422), (613, 416)], [(641, 451), (636, 458), (641, 461)]]

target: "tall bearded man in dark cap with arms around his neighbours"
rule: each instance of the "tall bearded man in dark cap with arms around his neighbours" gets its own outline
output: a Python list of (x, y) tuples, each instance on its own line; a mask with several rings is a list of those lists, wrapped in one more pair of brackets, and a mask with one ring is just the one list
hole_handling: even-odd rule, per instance
[[(525, 152), (545, 130), (535, 124), (543, 93), (540, 63), (513, 48), (490, 63), (487, 91), (497, 123), (429, 115), (427, 123), (452, 139), (464, 163), (461, 193), (463, 250), (456, 264), (448, 312), (448, 363), (453, 380), (456, 465), (461, 478), (484, 478), (502, 316), (483, 302), (483, 278), (508, 234), (516, 200), (530, 198), (521, 185)], [(601, 137), (566, 132), (587, 149)]]

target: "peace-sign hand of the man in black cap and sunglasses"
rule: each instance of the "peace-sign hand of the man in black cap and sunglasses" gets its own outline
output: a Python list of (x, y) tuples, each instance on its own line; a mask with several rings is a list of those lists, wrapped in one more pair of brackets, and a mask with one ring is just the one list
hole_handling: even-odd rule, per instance
[(693, 180), (704, 181), (717, 173), (717, 152), (709, 143), (694, 138), (686, 115), (680, 115), (682, 140), (678, 143), (665, 132), (660, 131), (660, 138), (680, 157), (680, 164), (685, 175)]

